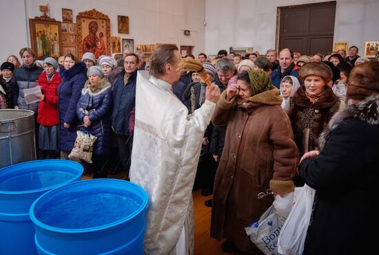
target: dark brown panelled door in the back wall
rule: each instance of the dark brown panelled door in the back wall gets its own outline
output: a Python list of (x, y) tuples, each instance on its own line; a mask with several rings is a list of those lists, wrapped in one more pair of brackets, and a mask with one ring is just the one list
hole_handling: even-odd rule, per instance
[(333, 48), (336, 1), (279, 7), (279, 50), (312, 55)]

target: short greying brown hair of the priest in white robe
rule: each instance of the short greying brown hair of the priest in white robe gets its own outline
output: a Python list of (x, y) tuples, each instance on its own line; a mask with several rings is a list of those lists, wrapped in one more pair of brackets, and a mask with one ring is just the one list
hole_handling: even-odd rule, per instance
[(152, 53), (152, 57), (150, 57), (149, 74), (154, 77), (165, 75), (165, 65), (174, 61), (175, 50), (178, 50), (178, 47), (174, 44), (163, 44), (158, 46), (158, 48)]

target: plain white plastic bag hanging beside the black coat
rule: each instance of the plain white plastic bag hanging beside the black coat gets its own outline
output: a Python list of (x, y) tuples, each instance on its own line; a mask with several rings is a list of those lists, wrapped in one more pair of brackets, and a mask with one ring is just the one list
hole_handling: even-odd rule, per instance
[(308, 185), (296, 187), (295, 205), (292, 207), (278, 238), (278, 252), (280, 254), (303, 254), (315, 192)]

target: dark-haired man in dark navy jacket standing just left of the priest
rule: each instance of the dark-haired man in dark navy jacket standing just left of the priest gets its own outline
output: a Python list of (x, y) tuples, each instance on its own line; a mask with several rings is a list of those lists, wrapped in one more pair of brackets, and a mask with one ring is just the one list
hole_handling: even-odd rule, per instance
[(132, 136), (129, 130), (129, 116), (136, 104), (136, 78), (139, 56), (125, 54), (124, 68), (113, 88), (112, 129), (117, 135), (121, 163), (129, 179), (130, 155), (132, 153)]

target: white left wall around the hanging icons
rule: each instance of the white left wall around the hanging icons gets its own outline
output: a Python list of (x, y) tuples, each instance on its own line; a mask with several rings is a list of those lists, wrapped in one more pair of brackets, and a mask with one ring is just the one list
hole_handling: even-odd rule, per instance
[[(62, 21), (61, 8), (73, 10), (74, 22), (76, 14), (95, 8), (110, 17), (112, 36), (134, 39), (134, 44), (194, 45), (194, 54), (204, 51), (205, 0), (12, 0), (0, 8), (0, 62), (10, 54), (19, 57), (19, 50), (30, 46), (28, 19), (41, 16), (39, 6), (46, 3), (57, 21)], [(118, 34), (117, 15), (129, 17), (130, 34)], [(191, 35), (182, 36), (183, 30)]]

